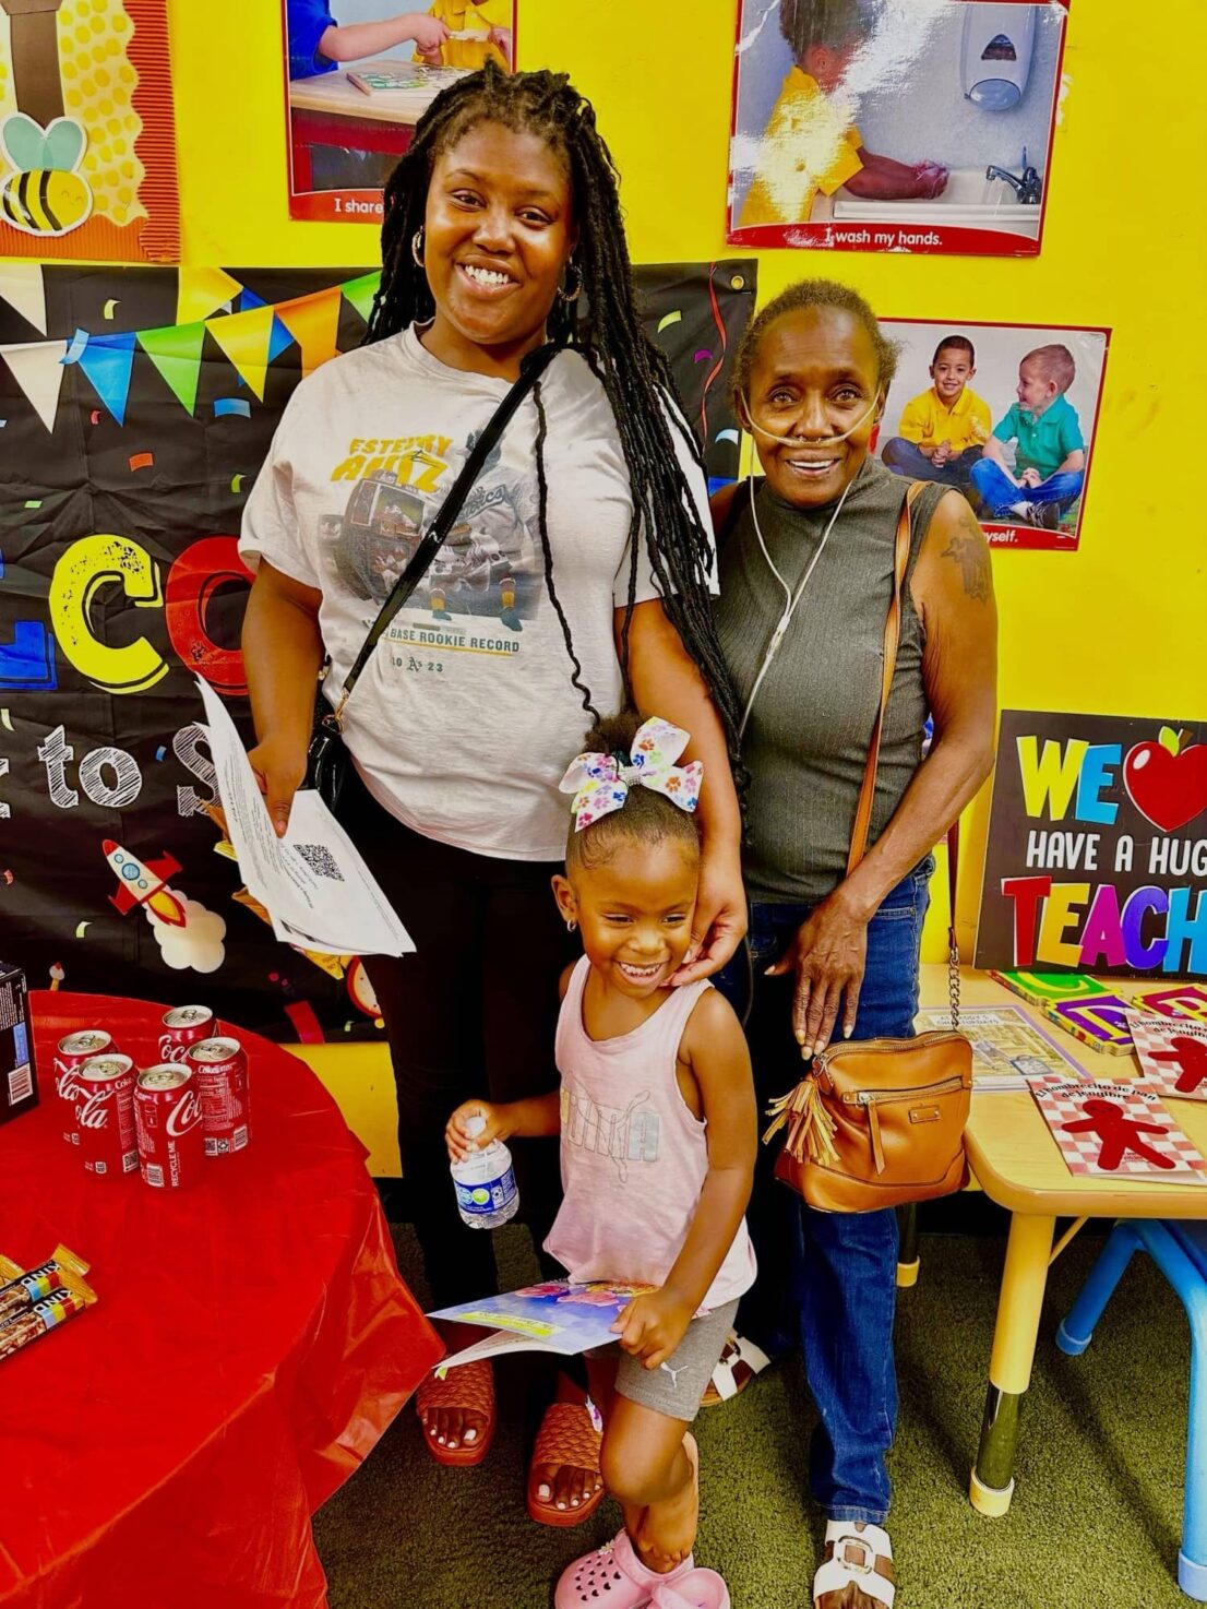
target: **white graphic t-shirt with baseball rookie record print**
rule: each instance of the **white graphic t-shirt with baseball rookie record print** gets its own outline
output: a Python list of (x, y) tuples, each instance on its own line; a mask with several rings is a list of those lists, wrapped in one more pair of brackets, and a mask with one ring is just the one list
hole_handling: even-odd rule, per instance
[[(322, 592), (343, 687), (415, 544), (509, 383), (435, 359), (414, 328), (323, 364), (290, 397), (243, 513), (240, 552)], [(612, 404), (562, 352), (541, 380), (549, 547), (581, 681), (602, 714), (621, 702), (613, 610), (629, 592), (629, 476)], [(568, 800), (557, 784), (591, 718), (546, 586), (528, 396), (410, 602), (360, 673), (344, 742), (377, 801), (417, 832), (478, 854), (554, 861)], [(705, 531), (703, 473), (671, 426)], [(644, 552), (637, 602), (658, 597)]]

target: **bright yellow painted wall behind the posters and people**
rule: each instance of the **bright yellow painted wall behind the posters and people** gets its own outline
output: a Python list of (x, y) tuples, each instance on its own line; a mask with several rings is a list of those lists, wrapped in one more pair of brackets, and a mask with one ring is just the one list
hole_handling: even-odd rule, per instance
[[(594, 100), (639, 262), (735, 253), (724, 243), (734, 6), (520, 0), (520, 64), (563, 68)], [(372, 227), (288, 219), (275, 0), (172, 0), (171, 10), (185, 261), (377, 262)], [(763, 298), (814, 272), (856, 285), (887, 317), (1114, 328), (1080, 552), (995, 553), (1004, 706), (1204, 714), (1194, 447), (1205, 378), (1204, 10), (1201, 0), (1167, 0), (1151, 14), (1135, 0), (1073, 0), (1038, 259), (760, 253)], [(966, 943), (985, 806), (966, 835)], [(340, 1056), (348, 1047), (307, 1059), (325, 1064), (373, 1171), (394, 1171), (383, 1052)]]

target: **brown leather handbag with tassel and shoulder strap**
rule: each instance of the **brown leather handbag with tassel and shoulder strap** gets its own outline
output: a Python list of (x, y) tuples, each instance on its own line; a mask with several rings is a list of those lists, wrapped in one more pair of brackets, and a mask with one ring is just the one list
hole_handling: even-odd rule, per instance
[[(884, 634), (880, 711), (872, 729), (855, 811), (850, 875), (867, 848), (875, 767), (901, 632), (901, 591), (909, 565), (909, 515), (921, 483), (909, 488), (896, 526), (893, 600)], [(958, 827), (948, 833), (948, 965), (951, 1028), (914, 1039), (840, 1039), (813, 1059), (789, 1094), (772, 1102), (763, 1142), (787, 1128), (776, 1178), (822, 1212), (874, 1212), (950, 1195), (967, 1181), (964, 1125), (972, 1099), (972, 1046), (959, 1027), (956, 948)]]

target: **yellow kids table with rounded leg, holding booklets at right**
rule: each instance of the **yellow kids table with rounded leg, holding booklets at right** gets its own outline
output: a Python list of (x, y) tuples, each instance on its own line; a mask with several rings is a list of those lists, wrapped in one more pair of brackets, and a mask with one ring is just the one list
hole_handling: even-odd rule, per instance
[[(1133, 994), (1173, 986), (1176, 978), (1110, 978), (1104, 991)], [(922, 1006), (946, 1006), (946, 965), (924, 965)], [(983, 972), (961, 970), (961, 1004), (1024, 1006)], [(1081, 1044), (1027, 1007), (1061, 1049), (1094, 1078), (1135, 1075), (1131, 1056), (1109, 1056)], [(1207, 1102), (1175, 1101), (1173, 1115), (1207, 1155)], [(972, 1173), (985, 1194), (1011, 1212), (1006, 1268), (990, 1353), (990, 1384), (969, 1496), (980, 1514), (999, 1516), (1014, 1495), (1019, 1413), (1030, 1385), (1048, 1268), (1086, 1218), (1207, 1218), (1207, 1186), (1149, 1184), (1143, 1179), (1075, 1178), (1064, 1163), (1028, 1093), (972, 1096), (966, 1131)], [(1053, 1252), (1057, 1218), (1073, 1218)]]

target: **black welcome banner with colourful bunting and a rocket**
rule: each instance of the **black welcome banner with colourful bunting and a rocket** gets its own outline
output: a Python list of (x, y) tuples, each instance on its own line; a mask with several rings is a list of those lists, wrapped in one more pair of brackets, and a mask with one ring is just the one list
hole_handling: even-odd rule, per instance
[[(732, 478), (755, 264), (636, 277), (710, 475)], [(360, 343), (378, 282), (0, 265), (0, 932), (32, 988), (121, 980), (275, 1038), (377, 1033), (359, 961), (278, 944), (241, 895), (193, 677), (251, 743), (240, 515), (293, 388)], [(183, 924), (154, 920), (159, 891)]]

